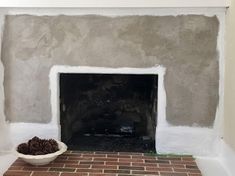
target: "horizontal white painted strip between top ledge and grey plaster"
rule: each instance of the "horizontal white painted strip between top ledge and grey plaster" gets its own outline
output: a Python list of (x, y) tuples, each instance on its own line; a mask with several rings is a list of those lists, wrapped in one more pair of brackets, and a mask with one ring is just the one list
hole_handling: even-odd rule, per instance
[(104, 15), (109, 17), (127, 15), (154, 15), (154, 16), (178, 16), (178, 15), (223, 15), (226, 8), (0, 8), (2, 15), (36, 15), (36, 16), (56, 16), (56, 15)]

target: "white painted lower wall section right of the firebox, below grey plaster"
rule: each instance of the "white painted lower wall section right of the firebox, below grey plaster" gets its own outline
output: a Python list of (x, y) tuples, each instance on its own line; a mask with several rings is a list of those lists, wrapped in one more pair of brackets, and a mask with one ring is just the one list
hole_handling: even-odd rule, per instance
[(219, 139), (214, 129), (199, 127), (157, 127), (156, 150), (158, 153), (216, 156)]

